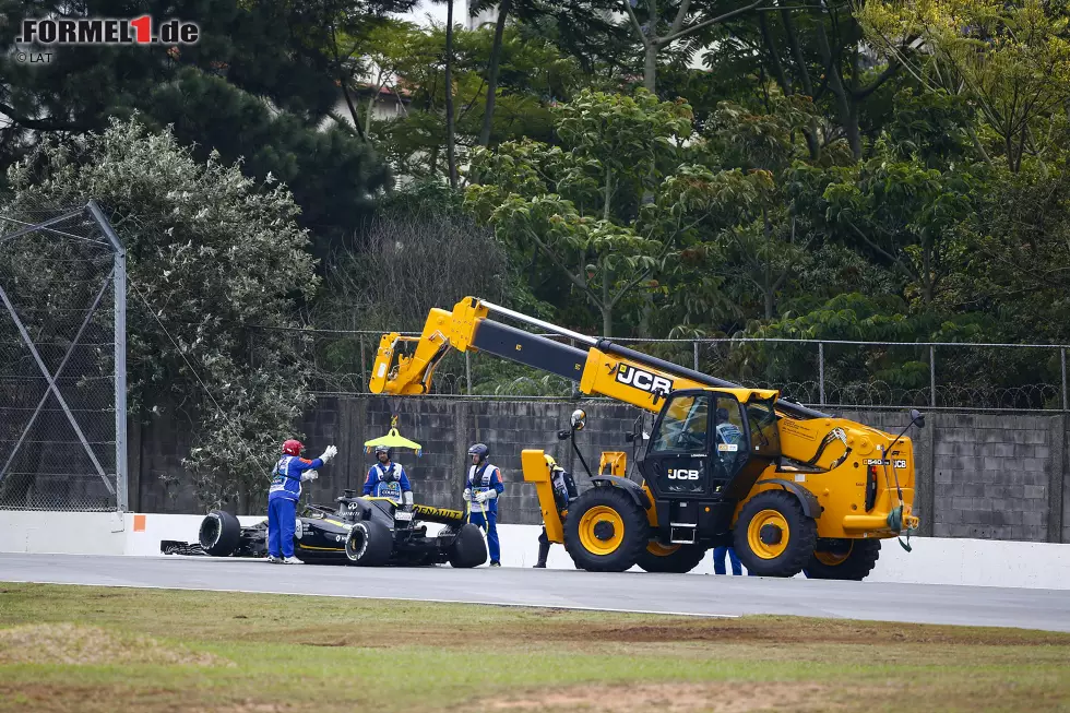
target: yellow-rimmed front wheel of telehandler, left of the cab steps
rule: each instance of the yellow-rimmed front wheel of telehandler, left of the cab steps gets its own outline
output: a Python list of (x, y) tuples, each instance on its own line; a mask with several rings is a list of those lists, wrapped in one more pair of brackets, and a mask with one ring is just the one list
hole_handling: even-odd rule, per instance
[(564, 549), (578, 569), (623, 572), (650, 542), (650, 524), (631, 495), (616, 486), (597, 486), (569, 506)]

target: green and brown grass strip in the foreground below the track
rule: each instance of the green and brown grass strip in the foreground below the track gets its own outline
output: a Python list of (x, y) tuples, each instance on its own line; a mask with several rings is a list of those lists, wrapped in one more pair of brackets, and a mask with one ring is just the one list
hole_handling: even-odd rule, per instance
[(1070, 634), (0, 583), (0, 711), (223, 709), (1070, 711)]

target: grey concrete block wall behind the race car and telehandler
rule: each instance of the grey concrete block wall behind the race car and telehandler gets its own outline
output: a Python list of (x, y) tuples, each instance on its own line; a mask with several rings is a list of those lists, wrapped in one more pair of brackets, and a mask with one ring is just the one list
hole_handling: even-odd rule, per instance
[[(419, 502), (462, 507), (465, 451), (471, 443), (483, 441), (490, 445), (491, 460), (506, 476), (500, 522), (537, 524), (538, 506), (534, 489), (523, 483), (520, 452), (545, 449), (572, 470), (584, 488), (582, 465), (569, 442), (556, 438), (578, 406), (588, 416), (578, 442), (592, 470), (603, 450), (627, 451), (631, 462), (631, 445), (623, 433), (642, 412), (613, 402), (320, 397), (304, 424), (305, 442), (311, 455), (334, 443), (338, 457), (306, 488), (320, 502), (332, 500), (342, 488), (359, 489), (373, 462), (364, 452), (364, 442), (385, 433), (391, 413), (396, 413), (401, 433), (424, 445), (423, 457), (399, 454)], [(827, 411), (895, 433), (906, 419), (903, 411)], [(645, 423), (649, 429), (649, 417)], [(1065, 414), (927, 413), (926, 427), (907, 433), (916, 449), (919, 534), (1070, 542), (1068, 427)], [(186, 429), (160, 419), (132, 428), (130, 441), (132, 510), (203, 512), (180, 464), (190, 445)], [(234, 509), (242, 514), (263, 512), (264, 494), (251, 496), (247, 507)]]

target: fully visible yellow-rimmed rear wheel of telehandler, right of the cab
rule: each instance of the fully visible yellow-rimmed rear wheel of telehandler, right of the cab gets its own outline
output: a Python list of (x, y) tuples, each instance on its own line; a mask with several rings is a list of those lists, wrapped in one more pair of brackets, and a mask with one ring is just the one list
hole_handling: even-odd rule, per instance
[(759, 492), (739, 512), (736, 555), (759, 577), (795, 577), (813, 556), (818, 526), (798, 498), (784, 490)]

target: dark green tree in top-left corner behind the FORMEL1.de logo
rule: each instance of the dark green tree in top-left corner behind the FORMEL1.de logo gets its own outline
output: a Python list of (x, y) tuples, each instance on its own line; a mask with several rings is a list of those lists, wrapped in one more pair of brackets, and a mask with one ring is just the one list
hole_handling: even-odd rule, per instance
[[(195, 45), (57, 46), (48, 63), (0, 58), (4, 82), (0, 111), (11, 124), (0, 132), (0, 167), (39, 139), (100, 131), (110, 118), (140, 111), (206, 161), (245, 159), (260, 180), (269, 173), (286, 182), (301, 206), (299, 221), (313, 230), (323, 254), (348, 239), (372, 207), (370, 195), (387, 188), (381, 158), (348, 128), (321, 131), (346, 85), (346, 52), (337, 33), (358, 36), (387, 11), (411, 0), (222, 0), (185, 4), (178, 11), (152, 0), (139, 5), (156, 19), (180, 14), (197, 22)], [(47, 16), (55, 4), (7, 3), (3, 33), (13, 44), (24, 16)], [(129, 16), (109, 0), (68, 3), (71, 16)]]

